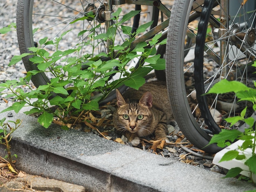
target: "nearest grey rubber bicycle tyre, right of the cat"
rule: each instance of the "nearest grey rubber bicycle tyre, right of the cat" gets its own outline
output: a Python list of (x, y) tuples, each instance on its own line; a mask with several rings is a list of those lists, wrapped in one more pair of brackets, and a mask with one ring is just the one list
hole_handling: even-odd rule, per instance
[(185, 42), (192, 4), (193, 0), (175, 0), (173, 5), (166, 45), (167, 90), (175, 120), (182, 133), (196, 147), (215, 153), (221, 148), (215, 144), (208, 145), (211, 137), (199, 127), (191, 113), (184, 82), (184, 43), (181, 42)]

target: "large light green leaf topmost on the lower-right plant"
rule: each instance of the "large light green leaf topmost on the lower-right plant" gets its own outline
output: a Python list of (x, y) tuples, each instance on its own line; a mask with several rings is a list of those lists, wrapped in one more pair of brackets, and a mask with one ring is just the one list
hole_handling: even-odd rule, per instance
[(226, 79), (221, 80), (220, 82), (216, 83), (211, 87), (209, 92), (210, 93), (216, 93), (216, 94), (223, 94), (228, 92), (240, 92), (240, 91), (247, 91), (249, 88), (244, 85), (243, 83), (240, 83), (238, 81), (228, 81)]

